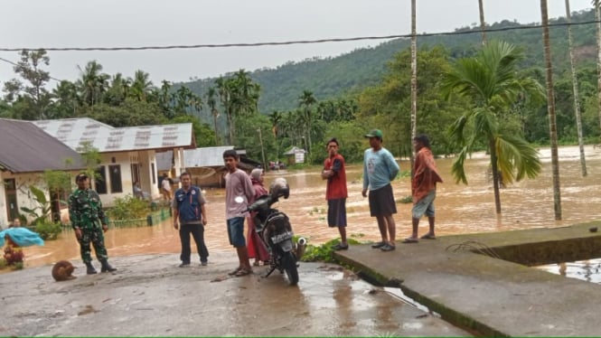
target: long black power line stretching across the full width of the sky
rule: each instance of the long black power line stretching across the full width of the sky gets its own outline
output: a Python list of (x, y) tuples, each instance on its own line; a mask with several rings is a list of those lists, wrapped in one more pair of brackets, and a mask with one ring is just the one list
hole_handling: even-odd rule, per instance
[[(598, 21), (586, 21), (581, 23), (553, 23), (549, 24), (549, 27), (563, 27), (563, 26), (578, 26), (591, 23), (598, 23)], [(521, 25), (517, 27), (502, 27), (486, 29), (486, 32), (506, 32), (506, 31), (518, 31), (518, 30), (529, 30), (529, 29), (540, 29), (542, 24), (531, 24)], [(443, 33), (421, 33), (418, 37), (437, 36), (437, 35), (465, 35), (481, 33), (480, 30), (468, 30), (468, 31), (455, 31), (455, 32), (443, 32)], [(181, 44), (181, 45), (168, 45), (168, 46), (140, 46), (140, 47), (39, 47), (39, 48), (0, 48), (0, 52), (20, 52), (20, 51), (37, 51), (40, 49), (49, 52), (117, 52), (117, 51), (150, 51), (150, 50), (177, 50), (177, 49), (203, 49), (203, 48), (230, 48), (230, 47), (260, 47), (260, 46), (281, 46), (290, 44), (311, 44), (311, 43), (324, 43), (324, 42), (351, 42), (351, 41), (363, 41), (363, 40), (390, 40), (390, 39), (402, 39), (410, 38), (411, 34), (394, 34), (384, 36), (359, 36), (352, 38), (328, 38), (328, 39), (317, 39), (317, 40), (296, 40), (296, 41), (285, 41), (285, 42), (251, 42), (251, 43), (205, 43), (205, 44)], [(12, 62), (11, 62), (12, 63)]]

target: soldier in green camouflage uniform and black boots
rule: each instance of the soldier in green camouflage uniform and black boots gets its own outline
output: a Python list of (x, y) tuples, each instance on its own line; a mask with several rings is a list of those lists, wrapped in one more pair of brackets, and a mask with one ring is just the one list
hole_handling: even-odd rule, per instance
[(107, 217), (102, 210), (99, 194), (89, 189), (87, 174), (75, 176), (78, 189), (69, 196), (69, 217), (71, 226), (75, 230), (78, 242), (80, 242), (80, 253), (83, 263), (86, 265), (87, 274), (93, 275), (96, 269), (92, 265), (91, 249), (89, 244), (96, 250), (96, 258), (102, 264), (101, 272), (113, 272), (108, 264), (107, 249), (104, 246), (104, 234), (108, 230)]

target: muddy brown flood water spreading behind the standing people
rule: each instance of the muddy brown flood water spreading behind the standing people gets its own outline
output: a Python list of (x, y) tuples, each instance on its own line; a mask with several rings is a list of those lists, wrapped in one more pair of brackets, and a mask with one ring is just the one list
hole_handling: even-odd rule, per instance
[[(581, 177), (578, 146), (559, 148), (560, 182), (563, 221), (555, 221), (553, 187), (551, 183), (550, 150), (540, 149), (542, 173), (535, 180), (524, 180), (501, 190), (502, 215), (494, 210), (492, 183), (487, 173), (490, 163), (484, 154), (474, 154), (466, 161), (469, 185), (455, 183), (451, 175), (453, 158), (437, 159), (437, 166), (445, 183), (438, 185), (437, 235), (521, 230), (538, 227), (560, 227), (583, 221), (601, 219), (601, 148), (586, 147), (587, 177)], [(400, 161), (402, 171), (409, 170), (409, 161)], [(324, 243), (338, 237), (336, 229), (326, 223), (325, 183), (321, 169), (303, 171), (285, 170), (266, 174), (266, 184), (276, 177), (285, 177), (290, 184), (290, 198), (276, 207), (286, 212), (297, 235), (310, 244)], [(369, 205), (362, 197), (362, 166), (349, 165), (347, 180), (347, 233), (359, 240), (378, 240), (380, 234), (375, 219), (369, 215)], [(401, 178), (393, 183), (397, 200), (410, 195), (410, 179)], [(224, 190), (206, 191), (208, 224), (205, 240), (209, 251), (231, 249), (225, 228)], [(411, 204), (398, 204), (395, 215), (397, 239), (410, 234)], [(420, 224), (420, 234), (427, 231), (427, 221)], [(109, 257), (151, 253), (179, 253), (180, 243), (171, 221), (140, 228), (110, 229), (106, 233)], [(43, 247), (25, 248), (25, 265), (37, 267), (61, 259), (79, 261), (79, 246), (72, 232), (65, 232), (58, 240), (46, 241)], [(196, 250), (193, 249), (193, 252)], [(197, 257), (197, 256), (196, 256)], [(211, 259), (211, 258), (210, 258)]]

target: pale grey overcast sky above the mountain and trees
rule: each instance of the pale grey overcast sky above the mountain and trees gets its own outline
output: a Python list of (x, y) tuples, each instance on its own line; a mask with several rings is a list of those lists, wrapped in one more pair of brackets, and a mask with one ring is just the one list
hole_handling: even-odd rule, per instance
[[(386, 36), (410, 33), (410, 0), (0, 0), (0, 48), (138, 47)], [(418, 33), (449, 32), (477, 23), (478, 0), (418, 0)], [(565, 15), (548, 0), (549, 17)], [(591, 7), (571, 0), (572, 12)], [(540, 22), (539, 0), (484, 0), (487, 23)], [(108, 74), (136, 70), (185, 81), (229, 71), (275, 68), (286, 61), (336, 56), (383, 41), (328, 42), (140, 52), (49, 52), (51, 76), (76, 80), (88, 61)], [(18, 60), (18, 52), (0, 52)], [(0, 61), (0, 85), (14, 78)], [(52, 88), (56, 82), (52, 81)]]

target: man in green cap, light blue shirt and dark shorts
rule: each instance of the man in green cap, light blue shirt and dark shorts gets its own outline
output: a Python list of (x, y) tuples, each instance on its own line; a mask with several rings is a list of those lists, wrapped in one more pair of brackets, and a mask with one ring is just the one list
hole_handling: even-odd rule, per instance
[(378, 221), (381, 241), (371, 246), (373, 249), (392, 251), (395, 247), (396, 224), (392, 218), (397, 213), (390, 182), (399, 174), (399, 164), (382, 146), (383, 134), (373, 129), (365, 137), (370, 139), (370, 148), (363, 155), (363, 197), (370, 191), (370, 214)]

